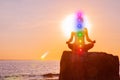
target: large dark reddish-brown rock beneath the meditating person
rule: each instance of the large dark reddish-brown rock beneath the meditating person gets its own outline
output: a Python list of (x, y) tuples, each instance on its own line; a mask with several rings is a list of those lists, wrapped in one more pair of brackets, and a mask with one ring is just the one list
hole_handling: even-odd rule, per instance
[(119, 80), (118, 56), (103, 52), (64, 51), (59, 80)]

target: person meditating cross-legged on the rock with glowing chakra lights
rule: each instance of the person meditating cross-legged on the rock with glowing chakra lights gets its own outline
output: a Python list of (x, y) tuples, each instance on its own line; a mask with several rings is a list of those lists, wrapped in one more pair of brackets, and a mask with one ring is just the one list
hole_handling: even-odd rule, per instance
[[(91, 40), (88, 36), (88, 30), (87, 28), (84, 28), (82, 26), (83, 24), (83, 17), (81, 13), (77, 15), (77, 31), (71, 32), (70, 39), (66, 42), (68, 44), (68, 47), (72, 51), (78, 51), (78, 52), (87, 52), (89, 49), (91, 49), (94, 46), (95, 40)], [(74, 39), (74, 43), (71, 43)], [(85, 39), (89, 42), (88, 44), (85, 44)]]

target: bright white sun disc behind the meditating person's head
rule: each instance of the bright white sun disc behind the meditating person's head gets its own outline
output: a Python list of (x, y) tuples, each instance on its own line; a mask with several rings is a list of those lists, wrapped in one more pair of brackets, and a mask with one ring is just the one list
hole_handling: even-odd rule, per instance
[[(83, 15), (83, 19), (84, 19), (84, 23), (83, 23), (84, 27), (86, 27), (90, 32), (91, 24), (90, 24), (87, 16)], [(63, 34), (65, 35), (65, 37), (69, 38), (71, 35), (71, 32), (76, 31), (75, 30), (76, 14), (72, 13), (72, 14), (68, 15), (67, 17), (65, 17), (65, 19), (61, 23), (61, 27), (62, 27), (62, 31), (63, 31)]]

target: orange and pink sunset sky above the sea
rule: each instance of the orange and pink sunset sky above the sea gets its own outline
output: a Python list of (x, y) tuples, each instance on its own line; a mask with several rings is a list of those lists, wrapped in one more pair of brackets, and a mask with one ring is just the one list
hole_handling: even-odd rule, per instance
[(90, 51), (120, 57), (120, 0), (0, 0), (0, 59), (59, 60), (69, 50), (61, 23), (78, 10), (92, 24)]

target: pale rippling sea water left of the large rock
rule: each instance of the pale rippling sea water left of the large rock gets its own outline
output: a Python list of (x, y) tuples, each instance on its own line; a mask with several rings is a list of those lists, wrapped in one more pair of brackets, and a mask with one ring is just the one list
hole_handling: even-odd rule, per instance
[(42, 76), (48, 73), (59, 73), (59, 61), (0, 61), (0, 80), (49, 80)]

